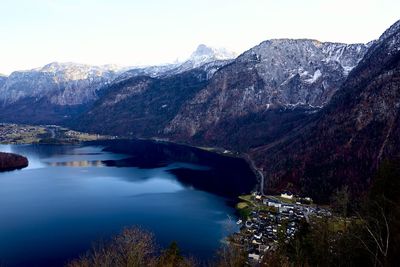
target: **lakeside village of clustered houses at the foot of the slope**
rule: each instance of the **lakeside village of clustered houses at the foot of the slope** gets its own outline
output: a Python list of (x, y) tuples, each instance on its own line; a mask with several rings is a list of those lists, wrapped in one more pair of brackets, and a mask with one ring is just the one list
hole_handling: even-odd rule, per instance
[(296, 197), (290, 192), (264, 196), (259, 192), (239, 197), (237, 204), (242, 219), (237, 221), (240, 232), (232, 236), (235, 244), (247, 254), (248, 263), (257, 265), (266, 253), (288, 243), (303, 222), (311, 216), (330, 217), (331, 212), (317, 207), (309, 197)]

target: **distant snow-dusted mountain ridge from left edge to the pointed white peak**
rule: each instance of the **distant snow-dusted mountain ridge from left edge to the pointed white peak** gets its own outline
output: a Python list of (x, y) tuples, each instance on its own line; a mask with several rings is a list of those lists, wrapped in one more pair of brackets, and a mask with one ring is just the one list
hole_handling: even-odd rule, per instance
[(0, 77), (0, 120), (4, 122), (63, 124), (74, 120), (102, 95), (102, 89), (133, 77), (171, 77), (202, 68), (207, 79), (234, 56), (223, 49), (200, 45), (183, 63), (146, 68), (118, 68), (50, 63)]

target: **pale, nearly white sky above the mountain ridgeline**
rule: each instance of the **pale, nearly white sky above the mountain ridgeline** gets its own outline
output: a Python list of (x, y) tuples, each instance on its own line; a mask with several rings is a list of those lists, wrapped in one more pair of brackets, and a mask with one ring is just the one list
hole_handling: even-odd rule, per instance
[(399, 0), (0, 0), (0, 73), (172, 62), (200, 43), (243, 52), (271, 38), (368, 42), (399, 11)]

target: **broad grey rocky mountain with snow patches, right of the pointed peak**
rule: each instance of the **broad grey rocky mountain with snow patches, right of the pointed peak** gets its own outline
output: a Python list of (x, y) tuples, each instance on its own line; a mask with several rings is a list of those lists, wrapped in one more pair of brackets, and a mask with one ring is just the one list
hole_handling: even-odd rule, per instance
[[(174, 140), (236, 149), (268, 142), (326, 105), (367, 47), (307, 39), (265, 41), (215, 73), (164, 133)], [(285, 127), (277, 129), (277, 124)], [(254, 141), (249, 140), (252, 132)], [(229, 144), (232, 135), (236, 138)]]

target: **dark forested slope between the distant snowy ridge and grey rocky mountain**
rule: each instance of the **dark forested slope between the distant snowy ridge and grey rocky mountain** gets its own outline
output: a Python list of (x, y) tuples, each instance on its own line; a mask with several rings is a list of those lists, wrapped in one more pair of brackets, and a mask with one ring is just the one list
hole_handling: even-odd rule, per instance
[(166, 78), (139, 76), (112, 84), (71, 126), (122, 136), (159, 136), (180, 107), (207, 84), (207, 72), (194, 69)]

